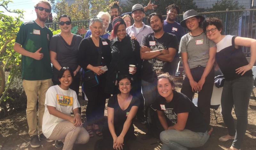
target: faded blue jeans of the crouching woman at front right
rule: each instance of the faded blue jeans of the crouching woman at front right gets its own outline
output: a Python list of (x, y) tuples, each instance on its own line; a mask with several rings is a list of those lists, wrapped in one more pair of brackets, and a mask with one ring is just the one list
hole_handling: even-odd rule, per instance
[(188, 129), (182, 131), (165, 130), (160, 133), (160, 140), (163, 142), (161, 150), (188, 150), (188, 147), (200, 147), (208, 138), (207, 130), (204, 133), (193, 132)]

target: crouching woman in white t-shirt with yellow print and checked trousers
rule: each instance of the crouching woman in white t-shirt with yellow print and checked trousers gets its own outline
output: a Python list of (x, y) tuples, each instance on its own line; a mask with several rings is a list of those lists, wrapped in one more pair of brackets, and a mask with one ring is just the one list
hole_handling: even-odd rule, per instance
[[(76, 92), (69, 89), (74, 78), (69, 67), (58, 72), (59, 85), (50, 87), (45, 94), (42, 130), (46, 138), (64, 140), (63, 150), (72, 150), (74, 143), (85, 144), (89, 133), (82, 127)], [(73, 111), (74, 117), (70, 116)]]

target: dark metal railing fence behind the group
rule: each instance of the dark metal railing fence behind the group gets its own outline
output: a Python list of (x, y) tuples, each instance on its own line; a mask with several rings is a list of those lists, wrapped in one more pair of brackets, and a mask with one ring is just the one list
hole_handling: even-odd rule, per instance
[[(242, 36), (256, 39), (256, 9), (245, 9), (245, 10), (231, 10), (231, 11), (217, 11), (217, 12), (201, 12), (199, 13), (205, 18), (207, 17), (217, 17), (223, 22), (222, 34)], [(163, 15), (164, 19), (166, 15)], [(177, 16), (177, 22), (183, 20), (183, 14)], [(143, 22), (147, 24), (146, 18)], [(81, 28), (88, 27), (88, 20), (72, 21), (72, 27), (78, 26)], [(46, 23), (48, 28), (58, 30), (58, 23)], [(243, 47), (243, 52), (246, 57), (250, 57), (250, 48)]]

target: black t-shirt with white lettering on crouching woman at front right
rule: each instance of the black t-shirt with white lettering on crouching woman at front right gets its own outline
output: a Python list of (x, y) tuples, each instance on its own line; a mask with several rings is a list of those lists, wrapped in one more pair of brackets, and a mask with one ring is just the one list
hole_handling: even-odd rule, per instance
[(156, 105), (155, 108), (157, 110), (164, 112), (168, 126), (176, 124), (177, 115), (179, 113), (188, 112), (188, 120), (185, 129), (194, 132), (205, 132), (207, 130), (206, 123), (198, 108), (187, 96), (180, 92), (173, 91), (173, 99), (171, 102), (166, 102), (164, 97), (159, 96), (154, 105)]

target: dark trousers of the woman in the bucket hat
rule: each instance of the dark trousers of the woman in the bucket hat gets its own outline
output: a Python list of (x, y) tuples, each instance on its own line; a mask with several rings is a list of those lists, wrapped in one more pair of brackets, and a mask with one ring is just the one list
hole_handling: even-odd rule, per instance
[[(190, 72), (196, 82), (198, 82), (201, 79), (201, 76), (204, 73), (204, 69), (205, 67), (203, 66), (198, 66), (190, 69)], [(198, 101), (197, 101), (197, 107), (201, 112), (201, 114), (203, 115), (204, 121), (206, 122), (207, 126), (209, 126), (208, 128), (210, 128), (210, 116), (211, 116), (210, 106), (211, 106), (213, 84), (214, 84), (214, 69), (212, 68), (210, 73), (205, 78), (205, 82), (202, 90), (198, 92)], [(194, 92), (191, 89), (188, 77), (186, 75), (184, 76), (184, 80), (183, 80), (183, 84), (180, 92), (185, 94), (192, 101)]]

